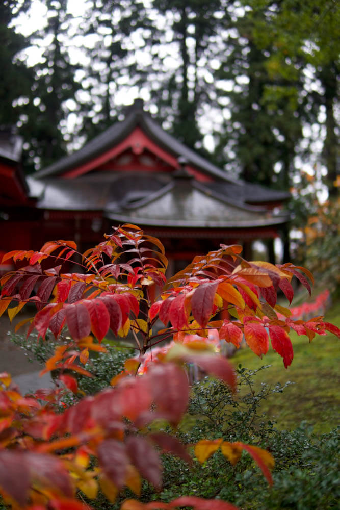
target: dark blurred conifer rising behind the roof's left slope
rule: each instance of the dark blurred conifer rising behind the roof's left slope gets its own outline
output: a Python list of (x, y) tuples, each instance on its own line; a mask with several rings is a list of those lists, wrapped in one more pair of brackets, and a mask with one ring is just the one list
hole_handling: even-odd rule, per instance
[(46, 166), (66, 154), (67, 101), (72, 99), (81, 85), (74, 80), (77, 66), (70, 63), (67, 48), (70, 16), (67, 0), (45, 0), (47, 25), (43, 31), (31, 36), (32, 42), (43, 47), (40, 61), (34, 66), (32, 84), (36, 117), (29, 119), (31, 138), (28, 141), (35, 166)]

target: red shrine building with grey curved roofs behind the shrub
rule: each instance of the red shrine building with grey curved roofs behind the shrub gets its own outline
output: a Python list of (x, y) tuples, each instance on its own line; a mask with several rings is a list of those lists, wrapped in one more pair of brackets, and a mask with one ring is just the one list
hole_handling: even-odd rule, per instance
[(24, 177), (20, 140), (0, 138), (0, 253), (72, 239), (84, 251), (134, 223), (165, 245), (171, 272), (223, 244), (287, 237), (290, 195), (234, 179), (176, 140), (135, 101), (72, 155)]

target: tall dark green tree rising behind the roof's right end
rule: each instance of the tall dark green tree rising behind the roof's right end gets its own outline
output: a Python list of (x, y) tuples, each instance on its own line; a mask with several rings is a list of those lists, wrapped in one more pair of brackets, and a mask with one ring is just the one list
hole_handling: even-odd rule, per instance
[(285, 73), (279, 74), (272, 65), (268, 23), (263, 13), (253, 13), (249, 7), (233, 17), (230, 50), (221, 55), (222, 65), (216, 73), (219, 95), (227, 104), (217, 150), (220, 163), (225, 161), (245, 180), (288, 189), (302, 136), (301, 70), (297, 63), (289, 72), (285, 66)]

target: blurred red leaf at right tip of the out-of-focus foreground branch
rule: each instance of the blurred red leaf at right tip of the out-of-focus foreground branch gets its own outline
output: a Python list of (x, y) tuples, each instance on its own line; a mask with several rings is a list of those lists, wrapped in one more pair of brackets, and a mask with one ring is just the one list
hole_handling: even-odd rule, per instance
[(217, 354), (190, 354), (187, 360), (207, 374), (223, 380), (232, 390), (236, 388), (236, 375), (226, 358)]

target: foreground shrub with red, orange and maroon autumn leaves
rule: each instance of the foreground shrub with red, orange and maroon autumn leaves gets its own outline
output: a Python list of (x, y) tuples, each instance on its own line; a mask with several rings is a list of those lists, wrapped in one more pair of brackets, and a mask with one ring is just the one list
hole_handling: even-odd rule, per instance
[[(11, 387), (10, 376), (0, 374), (0, 489), (6, 502), (34, 510), (81, 510), (88, 508), (75, 498), (81, 492), (95, 499), (100, 488), (114, 502), (127, 487), (141, 496), (142, 478), (160, 490), (161, 453), (192, 464), (186, 444), (172, 432), (188, 406), (190, 386), (184, 367), (193, 364), (201, 372), (219, 378), (231, 391), (236, 388), (233, 368), (210, 342), (212, 329), (219, 341), (236, 347), (244, 337), (260, 357), (268, 351), (270, 339), (285, 367), (293, 360), (290, 328), (309, 340), (325, 334), (325, 330), (339, 334), (335, 326), (320, 317), (293, 320), (289, 310), (276, 303), (278, 289), (292, 301), (293, 276), (310, 292), (308, 279), (312, 276), (307, 269), (247, 262), (240, 253), (240, 246), (221, 245), (204, 257), (195, 257), (186, 269), (167, 281), (167, 259), (160, 241), (144, 236), (135, 225), (123, 225), (83, 254), (77, 252), (73, 241), (54, 241), (39, 252), (23, 250), (5, 255), (3, 262), (12, 258), (14, 263), (26, 260), (29, 265), (2, 277), (0, 313), (8, 310), (12, 320), (25, 304), (34, 303), (35, 316), (21, 321), (16, 328), (29, 323), (29, 334), (36, 329), (38, 339), (45, 338), (49, 329), (57, 341), (44, 369), (53, 372), (54, 389), (23, 397)], [(70, 260), (80, 272), (66, 272)], [(152, 297), (155, 288), (160, 292), (156, 300)], [(10, 308), (12, 301), (15, 305)], [(236, 320), (216, 319), (223, 310)], [(284, 319), (279, 319), (277, 313)], [(159, 321), (165, 328), (156, 331)], [(65, 326), (67, 342), (59, 342)], [(93, 366), (88, 370), (87, 364), (95, 359), (93, 355), (108, 351), (101, 341), (109, 329), (118, 337), (133, 339), (139, 356), (125, 361), (124, 370), (110, 380), (110, 388), (84, 396), (78, 379), (95, 379)], [(159, 350), (139, 377), (148, 349), (170, 338), (174, 340), (171, 348)], [(70, 391), (74, 395), (71, 401), (67, 400)], [(195, 401), (197, 398), (193, 398), (192, 406)], [(246, 438), (246, 429), (252, 426), (251, 406), (249, 412), (245, 429), (240, 426), (241, 436)], [(236, 417), (242, 413), (238, 406), (235, 413)], [(164, 421), (170, 428), (159, 430), (155, 422)], [(225, 438), (228, 428), (224, 426), (231, 425), (228, 421), (221, 423), (220, 435), (200, 439), (194, 445), (199, 463), (204, 467), (206, 462), (223, 458), (223, 462), (242, 466), (251, 457), (272, 484), (271, 453), (257, 444), (240, 441), (237, 429)], [(249, 457), (242, 456), (243, 452)], [(204, 496), (216, 494), (209, 496), (207, 492)], [(177, 506), (197, 510), (234, 508), (220, 499), (207, 501), (189, 495), (167, 504), (125, 499), (121, 510)]]

